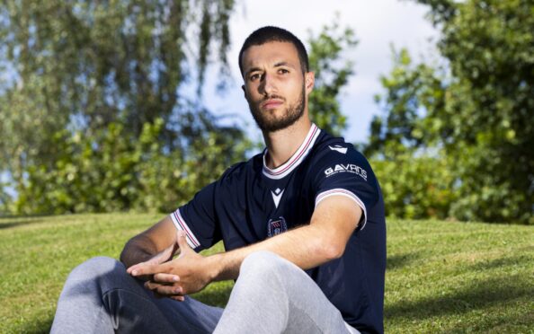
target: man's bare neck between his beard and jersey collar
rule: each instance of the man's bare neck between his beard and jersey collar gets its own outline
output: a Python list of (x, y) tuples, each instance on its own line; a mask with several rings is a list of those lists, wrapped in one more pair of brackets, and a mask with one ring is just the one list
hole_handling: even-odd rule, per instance
[(265, 159), (267, 167), (274, 169), (286, 163), (304, 142), (310, 127), (311, 121), (305, 115), (289, 127), (276, 132), (263, 132), (268, 151)]

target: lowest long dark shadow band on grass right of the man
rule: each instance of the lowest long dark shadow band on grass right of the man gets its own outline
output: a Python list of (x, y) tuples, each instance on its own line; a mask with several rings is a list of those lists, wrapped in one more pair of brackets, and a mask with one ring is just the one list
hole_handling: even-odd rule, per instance
[(389, 319), (402, 318), (403, 320), (423, 321), (435, 316), (480, 310), (521, 297), (532, 297), (531, 282), (526, 277), (515, 275), (491, 278), (460, 286), (456, 293), (387, 305), (384, 316)]

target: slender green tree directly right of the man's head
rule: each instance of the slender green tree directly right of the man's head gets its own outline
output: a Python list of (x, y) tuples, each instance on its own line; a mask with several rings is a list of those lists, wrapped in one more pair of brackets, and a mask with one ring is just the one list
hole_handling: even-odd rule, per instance
[(350, 28), (340, 31), (339, 24), (334, 22), (325, 25), (316, 36), (310, 33), (308, 43), (309, 67), (316, 75), (316, 86), (308, 100), (310, 118), (318, 127), (340, 136), (347, 127), (347, 118), (338, 96), (353, 74), (352, 62), (342, 62), (343, 51), (356, 46), (357, 40)]

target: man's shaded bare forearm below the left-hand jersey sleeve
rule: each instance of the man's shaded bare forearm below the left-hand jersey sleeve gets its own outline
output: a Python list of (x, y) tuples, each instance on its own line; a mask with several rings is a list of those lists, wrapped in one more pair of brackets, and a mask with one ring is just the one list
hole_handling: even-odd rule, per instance
[(163, 263), (171, 259), (177, 249), (176, 227), (167, 215), (147, 231), (126, 242), (120, 253), (120, 261), (126, 268), (151, 259), (154, 259), (155, 263)]

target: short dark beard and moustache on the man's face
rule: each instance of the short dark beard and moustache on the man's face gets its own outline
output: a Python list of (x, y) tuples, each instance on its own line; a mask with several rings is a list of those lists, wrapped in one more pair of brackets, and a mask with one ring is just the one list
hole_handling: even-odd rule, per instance
[(254, 101), (248, 101), (248, 106), (258, 127), (260, 127), (263, 131), (275, 132), (293, 125), (302, 117), (304, 114), (304, 94), (305, 88), (303, 84), (302, 92), (300, 92), (298, 100), (295, 103), (290, 104), (279, 118), (270, 112), (262, 111), (260, 109), (260, 105), (263, 103), (263, 101), (269, 99), (276, 98), (285, 101), (283, 97), (278, 95), (266, 96), (262, 101), (258, 101), (256, 103), (254, 103)]

